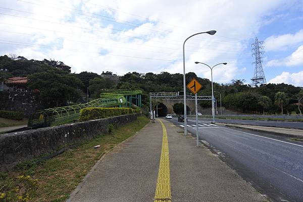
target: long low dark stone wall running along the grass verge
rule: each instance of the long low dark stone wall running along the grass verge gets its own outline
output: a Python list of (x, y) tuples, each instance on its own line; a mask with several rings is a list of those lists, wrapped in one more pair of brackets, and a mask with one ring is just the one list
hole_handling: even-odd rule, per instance
[(122, 125), (136, 120), (139, 115), (129, 114), (0, 134), (0, 171), (10, 170), (17, 163), (52, 154), (98, 134), (107, 133), (109, 124)]

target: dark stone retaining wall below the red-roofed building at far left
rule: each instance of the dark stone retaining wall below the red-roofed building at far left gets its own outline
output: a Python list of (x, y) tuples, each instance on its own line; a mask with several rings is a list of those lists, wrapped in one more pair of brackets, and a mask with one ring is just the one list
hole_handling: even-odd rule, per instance
[(39, 93), (34, 92), (0, 92), (0, 110), (17, 111), (29, 114), (44, 109), (39, 101)]

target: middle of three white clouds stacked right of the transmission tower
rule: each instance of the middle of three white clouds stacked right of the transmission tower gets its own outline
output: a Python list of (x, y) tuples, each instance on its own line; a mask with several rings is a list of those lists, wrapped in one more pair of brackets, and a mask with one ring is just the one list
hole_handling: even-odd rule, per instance
[(291, 55), (273, 59), (266, 63), (266, 66), (295, 66), (303, 64), (303, 45), (299, 46)]

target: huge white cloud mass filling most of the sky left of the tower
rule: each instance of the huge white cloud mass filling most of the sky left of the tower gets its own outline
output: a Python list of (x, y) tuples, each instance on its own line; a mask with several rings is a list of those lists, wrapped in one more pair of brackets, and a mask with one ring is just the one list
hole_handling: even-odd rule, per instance
[[(186, 71), (194, 71), (199, 76), (210, 78), (209, 69), (197, 68), (194, 61), (209, 64), (228, 62), (226, 66), (214, 69), (214, 81), (225, 83), (245, 71), (239, 66), (237, 59), (244, 54), (242, 52), (245, 44), (242, 41), (255, 37), (262, 26), (264, 16), (286, 4), (291, 5), (294, 1), (54, 0), (49, 3), (41, 0), (38, 1), (39, 4), (11, 3), (10, 0), (1, 2), (0, 6), (3, 7), (39, 14), (25, 15), (0, 9), (3, 13), (37, 19), (0, 15), (0, 30), (19, 33), (1, 32), (1, 40), (58, 48), (1, 44), (1, 55), (18, 53), (29, 59), (54, 58), (72, 66), (72, 70), (77, 73), (182, 73), (184, 39), (201, 30), (216, 29), (218, 33), (214, 36), (198, 35), (186, 42)], [(81, 15), (79, 10), (82, 10), (84, 15)]]

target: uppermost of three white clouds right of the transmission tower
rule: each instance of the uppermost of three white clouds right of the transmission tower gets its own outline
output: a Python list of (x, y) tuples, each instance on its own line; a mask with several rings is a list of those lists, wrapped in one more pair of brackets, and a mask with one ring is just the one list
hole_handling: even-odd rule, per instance
[(303, 42), (303, 29), (295, 34), (284, 34), (280, 36), (270, 36), (264, 41), (266, 51), (279, 51), (281, 48)]

